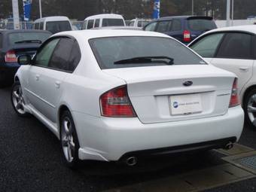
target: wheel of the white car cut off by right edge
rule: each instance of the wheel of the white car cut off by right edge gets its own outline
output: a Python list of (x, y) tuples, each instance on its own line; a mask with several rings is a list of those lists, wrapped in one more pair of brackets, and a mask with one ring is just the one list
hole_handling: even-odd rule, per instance
[(246, 94), (243, 109), (245, 111), (245, 122), (256, 130), (256, 89), (252, 89)]

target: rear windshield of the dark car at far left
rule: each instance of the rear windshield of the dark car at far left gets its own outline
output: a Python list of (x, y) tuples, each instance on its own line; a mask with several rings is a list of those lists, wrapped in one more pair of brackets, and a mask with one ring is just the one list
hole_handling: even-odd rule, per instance
[(43, 43), (50, 37), (50, 32), (13, 32), (8, 35), (10, 45), (26, 43)]

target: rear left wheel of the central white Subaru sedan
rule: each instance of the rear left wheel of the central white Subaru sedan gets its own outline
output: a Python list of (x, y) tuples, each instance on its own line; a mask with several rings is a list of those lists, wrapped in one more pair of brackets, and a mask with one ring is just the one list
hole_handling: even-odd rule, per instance
[(78, 150), (80, 148), (78, 135), (75, 130), (75, 123), (70, 111), (64, 111), (60, 117), (60, 144), (62, 160), (69, 168), (77, 168), (80, 162)]

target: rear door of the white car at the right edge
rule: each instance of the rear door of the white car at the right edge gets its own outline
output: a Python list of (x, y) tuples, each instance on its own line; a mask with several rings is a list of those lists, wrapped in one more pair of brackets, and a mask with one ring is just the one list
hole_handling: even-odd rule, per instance
[(253, 40), (253, 35), (248, 33), (228, 32), (211, 61), (214, 66), (237, 75), (239, 93), (252, 77)]

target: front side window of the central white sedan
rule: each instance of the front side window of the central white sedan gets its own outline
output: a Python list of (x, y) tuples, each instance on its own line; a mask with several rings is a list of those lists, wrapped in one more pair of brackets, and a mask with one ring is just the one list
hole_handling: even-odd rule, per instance
[(50, 57), (52, 56), (53, 50), (55, 49), (58, 42), (59, 38), (55, 38), (45, 44), (44, 47), (36, 54), (34, 66), (48, 67)]

